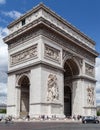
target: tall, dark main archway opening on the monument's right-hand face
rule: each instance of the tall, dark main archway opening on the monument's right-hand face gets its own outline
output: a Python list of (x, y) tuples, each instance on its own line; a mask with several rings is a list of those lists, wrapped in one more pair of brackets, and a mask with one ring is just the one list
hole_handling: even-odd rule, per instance
[(79, 75), (79, 68), (73, 59), (67, 59), (64, 64), (64, 114), (72, 115), (73, 78)]

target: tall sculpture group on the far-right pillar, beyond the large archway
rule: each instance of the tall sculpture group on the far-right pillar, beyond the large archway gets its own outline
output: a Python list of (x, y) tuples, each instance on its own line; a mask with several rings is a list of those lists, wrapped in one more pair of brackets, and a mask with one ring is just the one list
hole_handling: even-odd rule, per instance
[(87, 104), (94, 106), (94, 88), (90, 86), (87, 87)]

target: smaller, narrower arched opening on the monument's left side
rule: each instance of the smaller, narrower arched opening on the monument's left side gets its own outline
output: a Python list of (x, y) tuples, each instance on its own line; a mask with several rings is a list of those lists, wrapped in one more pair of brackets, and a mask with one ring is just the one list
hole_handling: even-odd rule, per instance
[(27, 115), (29, 113), (29, 78), (23, 75), (19, 79), (20, 85), (20, 116)]

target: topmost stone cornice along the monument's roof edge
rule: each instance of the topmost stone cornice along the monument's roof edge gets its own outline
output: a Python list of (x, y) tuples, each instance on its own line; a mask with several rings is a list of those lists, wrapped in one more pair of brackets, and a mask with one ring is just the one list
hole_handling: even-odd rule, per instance
[(67, 22), (66, 20), (64, 20), (63, 18), (61, 18), (61, 16), (57, 15), (54, 11), (52, 11), (51, 9), (47, 8), (44, 4), (39, 4), (36, 7), (34, 7), (32, 10), (28, 11), (26, 14), (24, 14), (23, 16), (21, 16), (19, 19), (15, 20), (14, 22), (12, 22), (8, 28), (11, 28), (12, 26), (14, 26), (15, 24), (17, 24), (18, 22), (20, 22), (21, 20), (25, 19), (26, 17), (30, 16), (31, 14), (37, 12), (38, 10), (43, 9), (45, 10), (48, 14), (50, 14), (51, 16), (53, 16), (54, 18), (56, 18), (58, 21), (61, 21), (62, 23), (64, 23), (66, 26), (68, 26), (69, 28), (71, 28), (73, 31), (75, 31), (76, 33), (78, 33), (79, 35), (81, 35), (82, 37), (84, 37), (85, 39), (87, 39), (88, 41), (90, 41), (93, 45), (95, 45), (95, 42), (90, 39), (88, 36), (86, 36), (84, 33), (80, 32), (80, 30), (78, 30), (75, 26), (73, 26), (72, 24), (70, 24), (69, 22)]

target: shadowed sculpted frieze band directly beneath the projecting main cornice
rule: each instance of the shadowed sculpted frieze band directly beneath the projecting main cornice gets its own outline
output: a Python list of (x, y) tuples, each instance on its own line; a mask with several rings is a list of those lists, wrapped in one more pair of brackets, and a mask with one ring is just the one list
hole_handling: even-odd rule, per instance
[[(47, 23), (49, 25), (49, 23), (46, 20), (44, 20), (44, 19), (40, 19), (40, 20), (43, 20), (44, 23)], [(31, 23), (31, 24), (33, 24), (33, 23)], [(52, 24), (50, 24), (50, 26), (54, 27), (55, 29), (57, 29), (58, 31), (60, 31), (60, 32), (62, 32), (64, 34), (63, 30), (62, 31), (59, 30), (57, 27), (55, 27)], [(22, 36), (21, 38), (19, 38), (19, 41), (17, 41), (17, 42), (13, 41), (14, 43), (10, 44), (9, 48), (17, 46), (18, 44), (23, 44), (28, 39), (31, 39), (31, 38), (36, 37), (38, 35), (43, 35), (43, 36), (46, 36), (46, 37), (48, 37), (49, 39), (51, 39), (53, 41), (56, 41), (58, 44), (63, 45), (63, 47), (66, 47), (66, 48), (74, 51), (75, 53), (83, 56), (89, 62), (95, 63), (95, 58), (91, 55), (91, 53), (89, 53), (86, 50), (84, 50), (81, 47), (79, 47), (79, 45), (84, 46), (84, 44), (82, 44), (81, 42), (79, 42), (77, 39), (73, 38), (71, 35), (69, 35), (67, 33), (65, 33), (65, 34), (66, 34), (66, 36), (68, 35), (68, 37), (70, 39), (72, 39), (73, 41), (75, 41), (77, 43), (77, 45), (75, 43), (69, 42), (68, 40), (64, 39), (62, 36), (58, 36), (56, 33), (52, 32), (50, 30), (46, 30), (46, 28), (42, 28), (42, 29), (40, 29), (38, 31), (30, 31), (30, 32), (26, 33), (25, 36)], [(89, 49), (87, 46), (86, 46), (86, 48)], [(91, 51), (93, 52), (94, 50), (91, 50)]]

